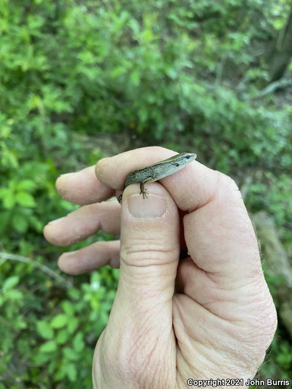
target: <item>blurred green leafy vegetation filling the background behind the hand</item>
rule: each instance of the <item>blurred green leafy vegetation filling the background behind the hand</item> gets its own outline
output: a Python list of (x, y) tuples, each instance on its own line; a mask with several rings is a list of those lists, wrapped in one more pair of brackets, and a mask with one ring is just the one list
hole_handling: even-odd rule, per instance
[[(56, 177), (117, 147), (194, 150), (274, 217), (291, 259), (291, 15), (288, 0), (2, 0), (0, 389), (92, 387), (118, 271), (61, 274), (42, 229), (76, 208)], [(263, 374), (292, 378), (291, 343), (280, 322)]]

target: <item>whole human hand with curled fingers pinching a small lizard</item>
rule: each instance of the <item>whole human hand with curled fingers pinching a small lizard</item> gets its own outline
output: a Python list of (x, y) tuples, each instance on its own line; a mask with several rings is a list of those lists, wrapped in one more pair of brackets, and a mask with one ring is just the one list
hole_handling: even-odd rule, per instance
[(90, 205), (48, 224), (51, 243), (69, 245), (99, 229), (121, 235), (121, 243), (97, 242), (59, 259), (62, 270), (79, 274), (118, 266), (120, 257), (116, 298), (94, 353), (94, 388), (181, 389), (189, 378), (242, 378), (248, 386), (272, 341), (274, 303), (230, 177), (194, 161), (163, 185), (147, 184), (145, 200), (133, 184), (122, 205), (102, 202), (130, 171), (172, 155), (146, 147), (100, 160), (98, 179), (90, 167), (57, 180), (65, 199)]

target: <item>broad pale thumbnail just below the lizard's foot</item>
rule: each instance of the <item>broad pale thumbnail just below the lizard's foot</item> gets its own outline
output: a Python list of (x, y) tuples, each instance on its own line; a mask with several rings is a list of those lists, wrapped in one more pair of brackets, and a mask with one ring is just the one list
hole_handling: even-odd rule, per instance
[(133, 217), (138, 219), (156, 219), (161, 217), (167, 205), (167, 198), (157, 195), (132, 195), (128, 198), (128, 210)]

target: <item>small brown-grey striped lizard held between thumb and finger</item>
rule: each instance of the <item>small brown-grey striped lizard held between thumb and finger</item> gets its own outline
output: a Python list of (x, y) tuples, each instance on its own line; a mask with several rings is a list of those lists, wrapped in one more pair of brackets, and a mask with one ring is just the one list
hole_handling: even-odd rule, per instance
[[(125, 181), (125, 188), (134, 182), (140, 182), (140, 195), (143, 195), (143, 198), (145, 198), (147, 197), (147, 192), (144, 185), (147, 182), (158, 181), (161, 178), (170, 176), (183, 169), (184, 166), (188, 165), (196, 158), (196, 154), (180, 153), (168, 159), (164, 159), (164, 161), (134, 170), (128, 174)], [(120, 195), (118, 198), (119, 203), (121, 202), (122, 196), (123, 195)]]

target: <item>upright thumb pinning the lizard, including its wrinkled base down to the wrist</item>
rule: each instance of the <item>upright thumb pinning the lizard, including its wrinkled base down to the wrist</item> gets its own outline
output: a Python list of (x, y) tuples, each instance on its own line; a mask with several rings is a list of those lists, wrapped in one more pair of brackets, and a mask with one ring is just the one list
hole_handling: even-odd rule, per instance
[(138, 190), (137, 184), (129, 185), (123, 194), (119, 285), (94, 366), (97, 375), (101, 364), (118, 366), (118, 378), (112, 368), (104, 374), (114, 383), (118, 379), (120, 388), (159, 388), (162, 382), (170, 388), (176, 371), (172, 297), (179, 213), (162, 185), (147, 184), (146, 199)]

